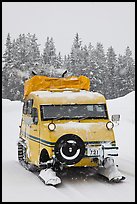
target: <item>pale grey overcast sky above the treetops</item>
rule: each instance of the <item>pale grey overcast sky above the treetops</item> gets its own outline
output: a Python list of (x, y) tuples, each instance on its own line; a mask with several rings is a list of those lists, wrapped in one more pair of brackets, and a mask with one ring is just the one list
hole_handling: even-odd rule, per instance
[(124, 54), (135, 52), (134, 2), (2, 2), (2, 45), (7, 34), (36, 34), (41, 52), (47, 37), (53, 37), (57, 53), (69, 54), (76, 33), (82, 45), (89, 42), (113, 46)]

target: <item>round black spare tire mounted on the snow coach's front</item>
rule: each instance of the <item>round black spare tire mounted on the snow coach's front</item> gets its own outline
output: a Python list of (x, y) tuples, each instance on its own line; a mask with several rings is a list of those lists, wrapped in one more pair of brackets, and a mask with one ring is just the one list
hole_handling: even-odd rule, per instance
[(78, 163), (84, 156), (85, 145), (77, 135), (67, 134), (57, 140), (54, 152), (61, 163), (72, 165)]

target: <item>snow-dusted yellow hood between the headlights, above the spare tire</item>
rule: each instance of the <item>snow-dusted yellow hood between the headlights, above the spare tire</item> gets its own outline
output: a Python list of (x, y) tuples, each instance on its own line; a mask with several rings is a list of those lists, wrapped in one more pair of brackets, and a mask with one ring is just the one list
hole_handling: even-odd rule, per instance
[[(106, 127), (107, 121), (100, 122), (84, 122), (84, 121), (68, 121), (62, 123), (56, 123), (56, 129), (49, 131), (50, 138), (54, 142), (65, 134), (74, 134), (79, 136), (84, 142), (90, 141), (114, 141), (114, 132), (108, 130)], [(45, 124), (45, 127), (48, 125)], [(46, 128), (47, 129), (47, 128)]]

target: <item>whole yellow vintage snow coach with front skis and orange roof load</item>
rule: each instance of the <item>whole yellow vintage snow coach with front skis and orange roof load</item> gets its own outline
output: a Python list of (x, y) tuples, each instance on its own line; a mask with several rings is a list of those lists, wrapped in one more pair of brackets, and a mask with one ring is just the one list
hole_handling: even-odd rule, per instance
[(56, 172), (70, 167), (92, 167), (119, 182), (125, 177), (114, 162), (113, 127), (105, 97), (90, 91), (86, 76), (33, 76), (24, 84), (19, 162), (39, 170), (45, 184), (61, 183)]

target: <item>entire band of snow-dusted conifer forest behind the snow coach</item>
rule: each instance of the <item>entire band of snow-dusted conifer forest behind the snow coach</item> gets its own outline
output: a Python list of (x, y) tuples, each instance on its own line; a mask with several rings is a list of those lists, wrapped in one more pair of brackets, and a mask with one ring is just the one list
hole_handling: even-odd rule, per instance
[(104, 51), (103, 44), (83, 45), (78, 33), (72, 39), (68, 55), (56, 52), (52, 37), (45, 37), (42, 52), (35, 34), (20, 34), (11, 40), (7, 34), (2, 56), (2, 98), (23, 100), (24, 81), (37, 75), (64, 77), (85, 75), (91, 91), (114, 99), (135, 90), (135, 60), (129, 46), (124, 55), (115, 53), (113, 45)]

